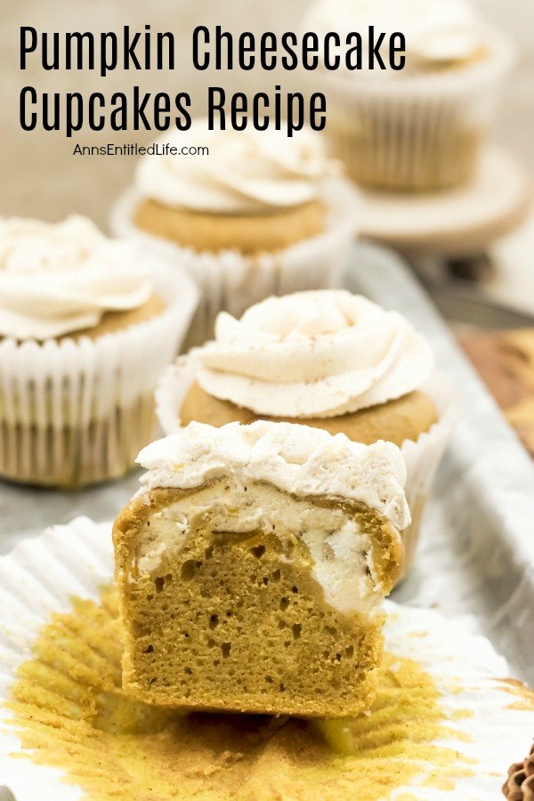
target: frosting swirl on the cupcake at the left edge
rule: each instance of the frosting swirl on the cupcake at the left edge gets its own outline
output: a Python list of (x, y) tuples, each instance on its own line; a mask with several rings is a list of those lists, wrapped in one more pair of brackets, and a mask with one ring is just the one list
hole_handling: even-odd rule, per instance
[(152, 282), (131, 245), (89, 220), (0, 221), (0, 336), (44, 340), (146, 303)]

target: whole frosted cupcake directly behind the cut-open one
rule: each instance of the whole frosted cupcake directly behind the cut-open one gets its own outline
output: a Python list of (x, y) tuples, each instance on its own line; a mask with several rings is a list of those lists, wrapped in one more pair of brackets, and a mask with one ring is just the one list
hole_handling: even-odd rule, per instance
[(167, 434), (191, 421), (299, 422), (352, 441), (401, 447), (413, 562), (421, 516), (454, 419), (425, 338), (398, 312), (323, 290), (271, 297), (241, 320), (221, 313), (214, 342), (180, 358), (158, 387)]

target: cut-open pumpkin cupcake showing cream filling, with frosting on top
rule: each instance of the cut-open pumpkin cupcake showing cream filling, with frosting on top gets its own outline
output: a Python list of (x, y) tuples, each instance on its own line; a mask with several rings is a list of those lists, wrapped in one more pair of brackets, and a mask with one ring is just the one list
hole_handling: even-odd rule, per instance
[(192, 423), (139, 461), (114, 527), (125, 688), (182, 708), (368, 709), (409, 522), (399, 449)]

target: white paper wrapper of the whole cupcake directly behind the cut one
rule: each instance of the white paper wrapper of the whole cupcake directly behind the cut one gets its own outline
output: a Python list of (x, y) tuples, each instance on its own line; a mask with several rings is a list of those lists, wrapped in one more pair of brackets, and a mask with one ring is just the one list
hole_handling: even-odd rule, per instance
[[(156, 413), (167, 435), (180, 428), (179, 411), (199, 367), (200, 363), (195, 359), (193, 351), (189, 356), (176, 360), (159, 380), (155, 396)], [(436, 470), (457, 419), (454, 393), (440, 376), (433, 376), (421, 389), (432, 398), (439, 419), (428, 432), (420, 434), (417, 441), (405, 440), (401, 445), (407, 469), (405, 492), (412, 517), (409, 527), (401, 532), (405, 549), (401, 578), (406, 578), (413, 566), (426, 499), (432, 490)], [(295, 423), (305, 425), (306, 421), (295, 420)]]

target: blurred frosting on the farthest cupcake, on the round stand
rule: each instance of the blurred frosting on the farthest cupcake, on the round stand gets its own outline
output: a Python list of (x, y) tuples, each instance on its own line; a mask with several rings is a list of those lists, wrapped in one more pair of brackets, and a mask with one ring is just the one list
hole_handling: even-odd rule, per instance
[[(358, 31), (364, 53), (369, 50), (370, 26), (387, 35), (395, 31), (404, 34), (405, 69), (466, 61), (479, 53), (486, 41), (478, 13), (464, 0), (318, 0), (304, 25), (323, 36), (331, 30), (345, 35)], [(367, 55), (363, 61), (368, 61)]]

